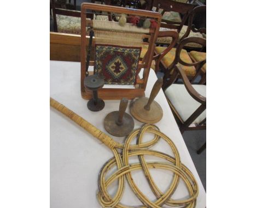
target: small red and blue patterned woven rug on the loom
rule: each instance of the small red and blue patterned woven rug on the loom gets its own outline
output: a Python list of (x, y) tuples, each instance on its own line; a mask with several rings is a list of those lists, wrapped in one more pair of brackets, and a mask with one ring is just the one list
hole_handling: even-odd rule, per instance
[(105, 84), (136, 84), (141, 47), (95, 45), (95, 71)]

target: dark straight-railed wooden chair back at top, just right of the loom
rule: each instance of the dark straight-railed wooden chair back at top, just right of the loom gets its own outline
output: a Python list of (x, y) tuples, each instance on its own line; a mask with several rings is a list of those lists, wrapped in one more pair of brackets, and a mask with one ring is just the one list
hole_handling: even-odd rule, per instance
[(169, 29), (177, 29), (178, 33), (181, 32), (184, 23), (187, 21), (189, 14), (195, 6), (196, 4), (177, 2), (173, 0), (154, 0), (152, 3), (152, 8), (156, 7), (157, 12), (159, 9), (162, 9), (161, 15), (164, 15), (166, 11), (175, 11), (183, 16), (180, 23), (175, 21), (162, 20), (164, 23), (161, 23), (160, 26)]

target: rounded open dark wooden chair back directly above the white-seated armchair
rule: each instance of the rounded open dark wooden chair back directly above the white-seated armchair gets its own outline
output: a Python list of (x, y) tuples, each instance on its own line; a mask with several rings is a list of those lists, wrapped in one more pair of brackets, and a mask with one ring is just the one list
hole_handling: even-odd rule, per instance
[[(195, 66), (195, 68), (196, 68), (195, 76), (197, 76), (197, 71), (199, 71), (202, 68), (202, 66), (206, 63), (206, 59), (201, 60), (200, 62), (194, 62), (194, 63), (186, 63), (181, 59), (182, 49), (189, 42), (194, 42), (196, 44), (199, 44), (202, 46), (202, 48), (206, 46), (205, 38), (189, 37), (189, 38), (185, 38), (181, 42), (179, 42), (179, 44), (176, 48), (175, 58), (174, 58), (172, 64), (170, 66), (168, 66), (168, 69), (165, 71), (163, 88), (167, 88), (171, 83), (173, 83), (177, 79), (176, 76), (173, 76), (173, 74), (171, 75), (171, 71), (174, 70), (173, 68), (176, 64), (182, 64), (184, 66)], [(189, 77), (189, 79), (192, 81), (195, 79), (195, 77)]]

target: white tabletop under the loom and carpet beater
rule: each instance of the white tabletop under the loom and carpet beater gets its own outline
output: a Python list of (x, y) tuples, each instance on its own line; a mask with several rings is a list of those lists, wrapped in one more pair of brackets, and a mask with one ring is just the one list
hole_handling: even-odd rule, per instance
[[(146, 96), (156, 81), (153, 70), (150, 71)], [(79, 114), (101, 131), (104, 130), (104, 117), (112, 112), (118, 111), (119, 100), (105, 100), (105, 107), (100, 112), (91, 112), (87, 108), (87, 100), (84, 100), (80, 93), (80, 63), (50, 61), (50, 96), (61, 102), (63, 105)], [(160, 130), (165, 133), (176, 145), (181, 161), (194, 174), (199, 186), (199, 196), (196, 207), (206, 207), (206, 192), (202, 186), (199, 175), (196, 172), (194, 163), (189, 155), (187, 146), (184, 143), (181, 132), (178, 129), (170, 107), (165, 99), (162, 90), (155, 100), (160, 104), (164, 112), (163, 118), (156, 123)], [(130, 103), (129, 103), (130, 104)], [(126, 112), (129, 113), (127, 107)], [(135, 128), (142, 123), (135, 120)], [(108, 133), (107, 133), (108, 134)], [(118, 142), (124, 142), (124, 138), (114, 137)], [(151, 139), (151, 136), (148, 136)], [(154, 146), (155, 150), (165, 152), (173, 156), (170, 146), (163, 139)], [(92, 137), (88, 132), (69, 118), (50, 109), (50, 206), (52, 208), (66, 207), (101, 207), (97, 201), (98, 173), (103, 164), (113, 157), (110, 151), (99, 140)], [(147, 161), (159, 161), (156, 157), (146, 157)], [(138, 161), (136, 157), (131, 162)], [(150, 169), (156, 184), (164, 192), (172, 180), (172, 173), (167, 170)], [(133, 179), (141, 191), (154, 200), (155, 197), (150, 190), (143, 173), (138, 170), (132, 172)], [(114, 193), (115, 186), (109, 188), (109, 193)], [(181, 180), (173, 199), (184, 199), (188, 197), (187, 188)], [(125, 184), (125, 191), (121, 203), (125, 205), (141, 205), (128, 183)], [(165, 207), (165, 206), (163, 206)]]

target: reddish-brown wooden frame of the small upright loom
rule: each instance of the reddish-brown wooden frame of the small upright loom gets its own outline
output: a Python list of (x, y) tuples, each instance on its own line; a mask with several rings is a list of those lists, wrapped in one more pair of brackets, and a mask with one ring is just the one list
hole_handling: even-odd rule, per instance
[[(149, 70), (152, 63), (154, 55), (154, 45), (158, 38), (159, 27), (161, 24), (161, 14), (154, 11), (146, 10), (135, 10), (130, 8), (114, 7), (110, 5), (83, 3), (81, 5), (81, 93), (84, 99), (91, 99), (92, 91), (85, 89), (84, 78), (86, 72), (86, 56), (89, 40), (86, 39), (86, 26), (92, 24), (92, 21), (86, 20), (87, 11), (106, 11), (108, 13), (119, 13), (134, 16), (144, 16), (151, 19), (155, 19), (158, 22), (156, 28), (149, 29), (149, 47), (146, 58), (143, 62), (139, 62), (138, 70), (143, 69), (143, 77), (141, 79), (136, 79), (139, 85), (136, 89), (124, 89), (124, 88), (102, 88), (98, 90), (98, 96), (103, 100), (120, 100), (123, 97), (127, 99), (134, 99), (135, 97), (144, 96), (144, 91), (147, 87)], [(94, 44), (94, 41), (92, 41)], [(94, 61), (90, 61), (89, 66), (94, 66)]]

